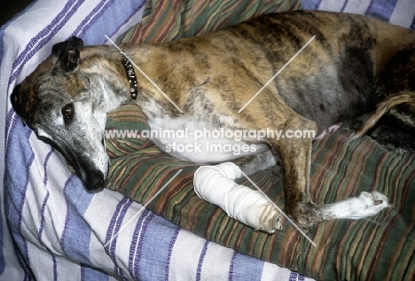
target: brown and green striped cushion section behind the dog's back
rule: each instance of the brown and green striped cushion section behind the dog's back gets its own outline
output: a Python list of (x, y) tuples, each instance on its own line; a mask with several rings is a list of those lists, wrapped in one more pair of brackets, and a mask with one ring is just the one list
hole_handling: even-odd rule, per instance
[(300, 0), (148, 0), (143, 20), (119, 38), (121, 43), (154, 43), (207, 34), (254, 16), (296, 10)]

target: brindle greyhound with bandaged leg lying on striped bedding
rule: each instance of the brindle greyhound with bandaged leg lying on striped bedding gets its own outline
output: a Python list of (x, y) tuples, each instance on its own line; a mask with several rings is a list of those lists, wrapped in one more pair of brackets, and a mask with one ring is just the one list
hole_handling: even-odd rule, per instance
[[(194, 175), (195, 191), (256, 230), (281, 230), (282, 214), (261, 193), (233, 180), (277, 161), (285, 181), (286, 213), (301, 227), (328, 219), (359, 219), (389, 207), (388, 198), (377, 191), (333, 204), (314, 204), (309, 195), (311, 144), (314, 137), (364, 114), (374, 114), (373, 124), (386, 113), (401, 121), (413, 117), (405, 110), (389, 110), (402, 104), (396, 101), (399, 95), (413, 103), (413, 91), (393, 87), (387, 91), (380, 87), (384, 81), (379, 77), (402, 51), (412, 59), (400, 64), (411, 64), (407, 67), (415, 73), (415, 32), (359, 15), (286, 12), (199, 37), (120, 47), (121, 54), (111, 45), (84, 47), (81, 39), (72, 37), (54, 45), (51, 58), (12, 92), (12, 106), (21, 120), (38, 138), (58, 147), (87, 189), (105, 186), (106, 113), (133, 99), (153, 130), (286, 133), (280, 138), (204, 140), (242, 142), (247, 149), (239, 155), (177, 152), (166, 145), (179, 142), (177, 137), (152, 138), (177, 158), (208, 164)], [(382, 102), (388, 110), (376, 111)], [(413, 121), (409, 126), (415, 127)], [(372, 127), (365, 125), (356, 136)], [(296, 131), (315, 134), (293, 137)]]

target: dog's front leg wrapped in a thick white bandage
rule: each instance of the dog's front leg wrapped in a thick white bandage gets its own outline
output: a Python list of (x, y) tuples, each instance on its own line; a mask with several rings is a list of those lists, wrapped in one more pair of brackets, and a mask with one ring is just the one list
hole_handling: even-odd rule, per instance
[(255, 230), (272, 233), (281, 230), (282, 216), (259, 191), (235, 183), (242, 176), (231, 162), (202, 166), (194, 174), (194, 191), (207, 202), (223, 209), (229, 216)]

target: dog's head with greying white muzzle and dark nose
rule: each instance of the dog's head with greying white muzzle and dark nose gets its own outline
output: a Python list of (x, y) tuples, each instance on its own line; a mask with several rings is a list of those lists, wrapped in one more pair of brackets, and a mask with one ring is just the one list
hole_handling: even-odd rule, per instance
[(13, 109), (38, 138), (52, 144), (72, 164), (85, 187), (104, 187), (109, 159), (104, 143), (106, 113), (97, 91), (82, 74), (81, 39), (72, 37), (52, 48), (50, 59), (12, 92)]

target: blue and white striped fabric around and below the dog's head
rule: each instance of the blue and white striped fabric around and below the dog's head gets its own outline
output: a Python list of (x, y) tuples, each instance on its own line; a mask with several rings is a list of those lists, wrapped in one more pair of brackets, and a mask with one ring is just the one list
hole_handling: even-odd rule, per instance
[(105, 35), (115, 38), (141, 19), (144, 2), (38, 0), (2, 27), (0, 279), (303, 279), (181, 230), (117, 192), (86, 192), (60, 154), (12, 111), (6, 93), (50, 55), (53, 43), (71, 35), (106, 43)]

